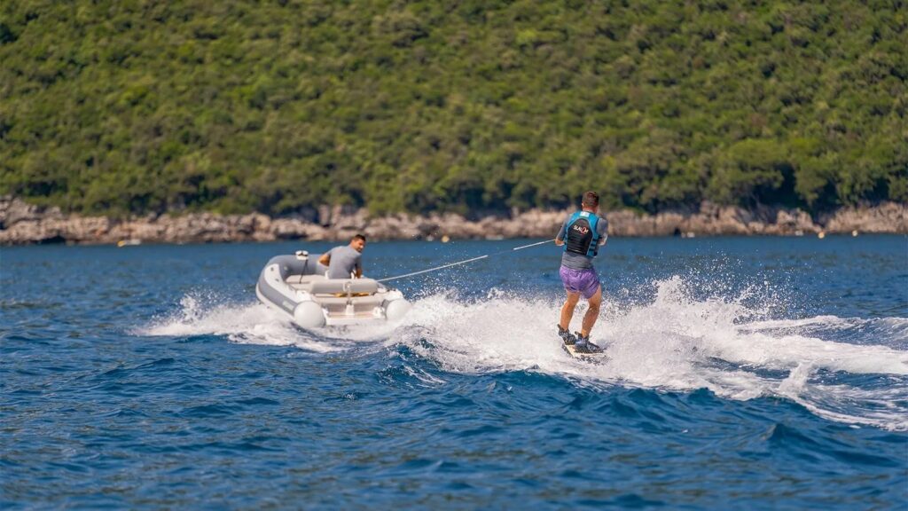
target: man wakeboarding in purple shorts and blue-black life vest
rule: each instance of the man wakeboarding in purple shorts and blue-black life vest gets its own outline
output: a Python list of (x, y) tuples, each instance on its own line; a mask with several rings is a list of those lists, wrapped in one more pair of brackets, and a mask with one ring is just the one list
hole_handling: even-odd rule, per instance
[[(593, 267), (593, 258), (598, 254), (599, 246), (606, 244), (608, 221), (605, 216), (598, 215), (599, 195), (596, 192), (585, 193), (580, 208), (568, 216), (555, 237), (555, 245), (565, 247), (558, 275), (568, 292), (568, 299), (561, 307), (558, 336), (566, 345), (574, 345), (577, 352), (598, 353), (602, 348), (589, 342), (589, 332), (596, 325), (602, 305), (602, 285)], [(574, 335), (569, 330), (570, 320), (580, 296), (587, 300), (589, 307), (580, 331)]]

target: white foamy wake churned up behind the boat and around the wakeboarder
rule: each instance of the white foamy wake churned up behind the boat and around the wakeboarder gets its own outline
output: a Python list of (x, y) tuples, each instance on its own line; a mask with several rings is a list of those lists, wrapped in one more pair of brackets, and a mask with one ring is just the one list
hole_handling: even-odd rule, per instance
[[(329, 336), (291, 326), (261, 305), (203, 310), (197, 299), (185, 297), (179, 315), (139, 334), (219, 335), (319, 353), (366, 346), (394, 354), (405, 347), (449, 373), (533, 371), (582, 386), (707, 388), (736, 400), (779, 396), (830, 420), (908, 430), (908, 318), (777, 319), (769, 312), (775, 304), (761, 305), (753, 294), (704, 297), (692, 287), (673, 277), (619, 293), (647, 296), (644, 302), (607, 300), (593, 333), (607, 346), (601, 365), (573, 359), (558, 345), (560, 296), (495, 290), (474, 300), (428, 296), (399, 324)], [(575, 326), (583, 312), (577, 310)], [(440, 385), (443, 378), (435, 374), (427, 381)]]

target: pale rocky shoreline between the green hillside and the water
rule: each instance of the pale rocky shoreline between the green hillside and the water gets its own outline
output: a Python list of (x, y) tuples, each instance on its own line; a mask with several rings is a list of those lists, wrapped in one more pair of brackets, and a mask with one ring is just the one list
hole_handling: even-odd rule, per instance
[[(128, 219), (67, 215), (56, 207), (0, 197), (0, 245), (139, 243), (226, 243), (277, 240), (499, 239), (555, 235), (566, 211), (530, 209), (490, 214), (370, 216), (364, 209), (322, 207), (308, 216), (146, 215)], [(812, 217), (800, 209), (739, 207), (704, 203), (690, 213), (639, 215), (606, 212), (613, 236), (908, 234), (908, 205), (883, 203), (842, 208)]]

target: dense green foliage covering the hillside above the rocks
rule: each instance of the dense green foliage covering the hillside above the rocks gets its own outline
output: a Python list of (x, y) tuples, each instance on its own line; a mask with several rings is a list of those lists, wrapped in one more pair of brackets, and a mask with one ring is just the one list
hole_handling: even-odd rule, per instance
[(7, 0), (0, 193), (281, 214), (908, 201), (902, 1)]

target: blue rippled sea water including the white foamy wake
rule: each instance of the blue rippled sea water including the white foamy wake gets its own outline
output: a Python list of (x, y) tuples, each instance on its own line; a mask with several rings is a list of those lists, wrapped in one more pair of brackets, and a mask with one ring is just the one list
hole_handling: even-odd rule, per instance
[[(531, 241), (376, 242), (366, 273)], [(552, 246), (401, 280), (396, 325), (257, 303), (329, 246), (0, 249), (0, 506), (908, 503), (904, 236), (613, 238), (602, 365), (558, 346)]]

